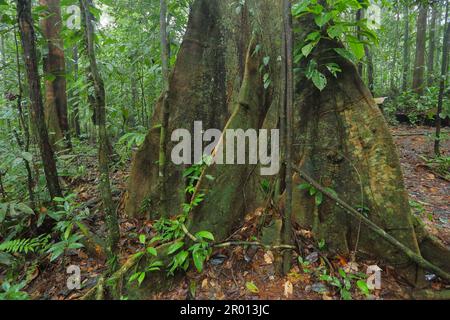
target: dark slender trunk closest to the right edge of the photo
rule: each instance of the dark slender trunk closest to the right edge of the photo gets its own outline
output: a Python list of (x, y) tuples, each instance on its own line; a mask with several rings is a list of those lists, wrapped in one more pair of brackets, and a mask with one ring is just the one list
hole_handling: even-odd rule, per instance
[(442, 48), (442, 71), (441, 71), (441, 79), (439, 81), (439, 98), (438, 98), (438, 108), (436, 113), (436, 139), (434, 142), (434, 153), (436, 156), (440, 156), (441, 148), (441, 113), (443, 109), (444, 103), (444, 94), (445, 94), (445, 84), (448, 80), (448, 50), (450, 48), (450, 21), (448, 16), (448, 6), (449, 1), (447, 0), (446, 9), (445, 9), (445, 33), (444, 33), (444, 42)]

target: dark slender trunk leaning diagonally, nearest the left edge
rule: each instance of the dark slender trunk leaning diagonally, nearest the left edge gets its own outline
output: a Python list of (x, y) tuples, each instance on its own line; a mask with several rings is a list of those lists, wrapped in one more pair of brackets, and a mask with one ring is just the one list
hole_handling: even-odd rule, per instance
[(61, 196), (62, 192), (58, 181), (56, 161), (49, 141), (47, 126), (45, 124), (30, 0), (17, 1), (17, 15), (30, 91), (31, 116), (34, 129), (38, 135), (39, 149), (44, 166), (45, 178), (47, 180), (47, 188), (53, 199)]

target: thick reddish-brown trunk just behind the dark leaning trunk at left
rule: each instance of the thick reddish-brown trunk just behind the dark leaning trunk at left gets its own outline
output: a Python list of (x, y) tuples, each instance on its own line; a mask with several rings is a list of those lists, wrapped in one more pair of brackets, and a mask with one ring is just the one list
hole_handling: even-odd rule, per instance
[[(45, 117), (52, 145), (70, 148), (70, 132), (67, 117), (66, 66), (64, 44), (61, 38), (60, 0), (39, 0), (48, 10), (41, 20), (42, 33), (47, 41), (48, 53), (44, 55)], [(63, 142), (63, 145), (61, 145)]]

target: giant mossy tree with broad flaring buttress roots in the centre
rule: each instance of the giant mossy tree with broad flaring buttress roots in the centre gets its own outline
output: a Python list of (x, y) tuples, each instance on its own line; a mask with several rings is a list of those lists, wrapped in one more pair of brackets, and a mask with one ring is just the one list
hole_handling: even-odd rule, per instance
[[(194, 121), (202, 121), (204, 129), (222, 131), (277, 129), (281, 124), (282, 1), (246, 1), (241, 10), (236, 10), (232, 3), (197, 0), (192, 6), (169, 81), (169, 136), (177, 128), (192, 133)], [(301, 32), (295, 35), (295, 43), (304, 41), (314, 26), (309, 18), (296, 23), (295, 29)], [(330, 54), (333, 52), (330, 49), (338, 47), (341, 47), (338, 42), (322, 40), (308, 57), (319, 66), (334, 62), (342, 68), (337, 78), (321, 70), (327, 74), (325, 90), (319, 91), (305, 76), (296, 78), (293, 163), (323, 186), (335, 190), (352, 207), (362, 208), (370, 220), (414, 253), (448, 271), (448, 251), (413, 219), (400, 162), (383, 115), (355, 65)], [(294, 67), (305, 68), (308, 59)], [(185, 168), (170, 161), (175, 142), (169, 142), (165, 151), (168, 161), (164, 191), (168, 193), (159, 196), (161, 112), (160, 102), (153, 117), (155, 127), (132, 164), (126, 199), (130, 216), (159, 217), (161, 199), (167, 201), (168, 214), (177, 215), (182, 204), (189, 201), (182, 174)], [(224, 135), (216, 150), (226, 145)], [(260, 176), (258, 169), (251, 164), (206, 167), (197, 184), (205, 199), (190, 213), (187, 227), (191, 233), (208, 230), (216, 240), (224, 240), (246, 213), (264, 206), (260, 185), (268, 177)], [(207, 176), (214, 179), (206, 179)], [(281, 172), (269, 180), (277, 183), (280, 176)], [(298, 176), (293, 178), (296, 184), (304, 182)], [(359, 219), (347, 215), (335, 201), (325, 200), (318, 207), (307, 192), (296, 189), (292, 213), (293, 223), (312, 229), (318, 239), (326, 240), (330, 250), (382, 258), (396, 266), (409, 282), (416, 285), (423, 282), (421, 268)], [(141, 293), (149, 288), (143, 286)], [(135, 289), (131, 291), (136, 292)]]

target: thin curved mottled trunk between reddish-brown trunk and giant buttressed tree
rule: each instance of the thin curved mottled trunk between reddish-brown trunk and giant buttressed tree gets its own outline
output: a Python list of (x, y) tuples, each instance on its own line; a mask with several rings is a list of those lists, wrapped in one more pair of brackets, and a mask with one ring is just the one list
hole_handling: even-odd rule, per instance
[(95, 110), (95, 123), (98, 127), (98, 166), (100, 171), (99, 192), (102, 197), (103, 209), (105, 210), (106, 225), (108, 227), (107, 255), (110, 268), (116, 263), (117, 244), (120, 237), (117, 211), (111, 192), (109, 177), (109, 139), (106, 128), (106, 101), (103, 79), (97, 68), (97, 60), (94, 47), (94, 20), (90, 12), (93, 6), (91, 0), (80, 0), (84, 38), (86, 43), (86, 54), (89, 60), (90, 85), (94, 90), (91, 102)]

